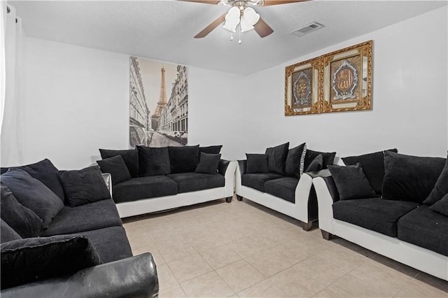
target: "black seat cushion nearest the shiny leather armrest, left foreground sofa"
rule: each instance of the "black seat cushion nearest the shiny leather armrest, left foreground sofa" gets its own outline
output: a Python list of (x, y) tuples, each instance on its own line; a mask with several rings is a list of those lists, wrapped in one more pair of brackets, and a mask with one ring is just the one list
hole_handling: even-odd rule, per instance
[(132, 250), (123, 227), (105, 227), (76, 235), (85, 235), (103, 263), (132, 257)]

